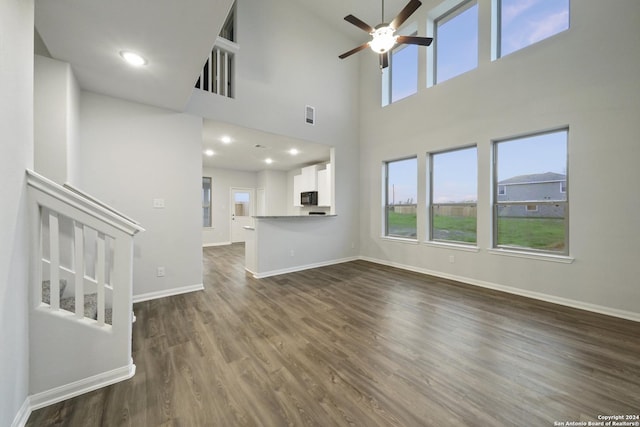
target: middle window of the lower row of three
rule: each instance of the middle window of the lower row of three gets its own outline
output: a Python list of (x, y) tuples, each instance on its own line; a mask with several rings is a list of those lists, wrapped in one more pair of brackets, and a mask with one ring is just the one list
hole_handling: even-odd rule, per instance
[(469, 147), (431, 154), (431, 240), (476, 243), (477, 152)]

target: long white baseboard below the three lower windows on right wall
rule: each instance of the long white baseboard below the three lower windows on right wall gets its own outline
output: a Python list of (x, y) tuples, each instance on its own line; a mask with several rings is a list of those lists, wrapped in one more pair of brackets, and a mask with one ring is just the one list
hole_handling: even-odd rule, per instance
[(369, 261), (376, 264), (387, 265), (389, 267), (396, 267), (402, 270), (413, 271), (415, 273), (428, 274), (430, 276), (441, 277), (443, 279), (455, 280), (456, 282), (462, 282), (469, 285), (479, 286), (482, 288), (493, 289), (496, 291), (506, 292), (509, 294), (519, 295), (527, 298), (533, 298), (540, 301), (546, 301), (553, 304), (562, 305), (565, 307), (577, 308), (579, 310), (591, 311), (594, 313), (604, 314), (612, 317), (619, 317), (621, 319), (632, 320), (634, 322), (640, 322), (640, 313), (632, 311), (619, 310), (616, 308), (606, 307), (597, 304), (590, 304), (583, 301), (576, 301), (569, 298), (557, 297), (554, 295), (544, 294), (541, 292), (528, 291), (526, 289), (514, 288), (511, 286), (498, 285), (496, 283), (485, 282), (483, 280), (471, 279), (469, 277), (456, 276), (453, 274), (442, 273), (440, 271), (428, 270), (426, 268), (414, 267), (411, 265), (400, 264), (391, 261), (385, 261), (376, 258), (369, 258), (361, 256), (359, 259), (363, 261)]

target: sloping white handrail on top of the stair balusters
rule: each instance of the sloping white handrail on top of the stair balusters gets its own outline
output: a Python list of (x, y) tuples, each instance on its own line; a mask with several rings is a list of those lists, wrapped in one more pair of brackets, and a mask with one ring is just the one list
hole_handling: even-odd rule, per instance
[(121, 214), (106, 203), (93, 197), (88, 197), (79, 190), (65, 188), (39, 173), (28, 169), (27, 184), (131, 236), (138, 232), (145, 231), (140, 224)]

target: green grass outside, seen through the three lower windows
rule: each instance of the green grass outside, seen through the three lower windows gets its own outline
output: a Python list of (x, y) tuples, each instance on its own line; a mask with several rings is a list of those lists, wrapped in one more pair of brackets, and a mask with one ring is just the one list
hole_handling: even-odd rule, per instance
[[(389, 235), (416, 237), (416, 214), (389, 212)], [(476, 218), (437, 215), (433, 219), (436, 240), (475, 243)], [(498, 245), (547, 251), (564, 249), (565, 229), (561, 218), (505, 218), (498, 220)]]

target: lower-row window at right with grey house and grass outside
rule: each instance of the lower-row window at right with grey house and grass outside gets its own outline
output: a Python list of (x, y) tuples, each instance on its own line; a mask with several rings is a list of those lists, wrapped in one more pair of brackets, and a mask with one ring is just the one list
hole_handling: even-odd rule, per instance
[(494, 247), (568, 254), (567, 140), (564, 129), (494, 144)]

